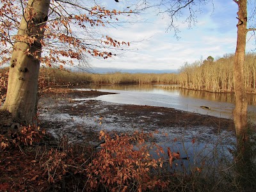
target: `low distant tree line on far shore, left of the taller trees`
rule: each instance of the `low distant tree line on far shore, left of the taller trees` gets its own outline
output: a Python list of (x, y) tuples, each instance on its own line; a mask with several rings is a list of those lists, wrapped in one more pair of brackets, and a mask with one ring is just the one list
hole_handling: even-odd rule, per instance
[(54, 68), (41, 68), (40, 78), (54, 84), (179, 84), (179, 74), (144, 74), (113, 72), (91, 74), (88, 72), (69, 72)]

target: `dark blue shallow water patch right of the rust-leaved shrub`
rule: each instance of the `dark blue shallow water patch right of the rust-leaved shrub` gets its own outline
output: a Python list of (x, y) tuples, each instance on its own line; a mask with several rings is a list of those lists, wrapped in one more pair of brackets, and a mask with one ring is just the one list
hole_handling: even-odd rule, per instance
[[(232, 162), (233, 156), (228, 149), (234, 148), (232, 145), (223, 145), (221, 143), (191, 143), (191, 142), (176, 142), (176, 143), (157, 143), (163, 148), (164, 154), (161, 157), (165, 160), (165, 168), (168, 171), (179, 171), (184, 173), (191, 173), (196, 167), (207, 167), (206, 172), (211, 169), (212, 172), (216, 172), (216, 168), (221, 166), (227, 166)], [(180, 159), (174, 159), (172, 167), (168, 161), (167, 148), (170, 147), (171, 152), (179, 152)], [(156, 152), (156, 147), (150, 150), (150, 154), (157, 159), (159, 156)], [(227, 164), (226, 164), (227, 163)], [(200, 170), (200, 171), (202, 171)], [(215, 171), (214, 171), (215, 170)]]

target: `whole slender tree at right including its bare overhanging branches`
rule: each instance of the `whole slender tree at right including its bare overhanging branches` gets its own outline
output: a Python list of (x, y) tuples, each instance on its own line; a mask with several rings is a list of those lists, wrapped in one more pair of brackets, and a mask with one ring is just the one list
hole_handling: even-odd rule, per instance
[[(248, 20), (255, 20), (255, 4), (252, 4), (252, 15), (247, 14), (248, 2), (247, 0), (233, 0), (237, 4), (237, 44), (234, 56), (233, 72), (234, 72), (234, 92), (236, 95), (235, 108), (233, 111), (234, 124), (236, 127), (237, 136), (237, 180), (241, 182), (245, 191), (252, 188), (250, 179), (253, 175), (253, 148), (250, 147), (250, 139), (248, 136), (248, 122), (247, 122), (247, 95), (244, 78), (244, 58), (246, 51), (246, 35), (248, 31), (255, 31), (255, 28), (248, 28)], [(201, 7), (204, 4), (212, 3), (212, 0), (161, 0), (157, 4), (159, 13), (168, 13), (171, 22), (169, 28), (174, 29), (175, 34), (179, 32), (179, 28), (175, 26), (175, 21), (182, 15), (185, 17), (185, 22), (191, 27), (197, 21), (196, 13), (200, 13)], [(186, 16), (184, 16), (186, 15)], [(251, 23), (255, 26), (255, 21)]]

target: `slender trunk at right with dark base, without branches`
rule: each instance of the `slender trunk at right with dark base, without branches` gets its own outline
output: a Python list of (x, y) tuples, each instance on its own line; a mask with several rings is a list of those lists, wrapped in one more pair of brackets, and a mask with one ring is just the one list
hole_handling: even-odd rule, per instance
[[(247, 33), (247, 1), (236, 1), (239, 7), (237, 24), (237, 47), (234, 60), (234, 90), (236, 94), (236, 107), (234, 109), (234, 124), (237, 136), (237, 181), (244, 191), (255, 187), (253, 183), (252, 146), (248, 137), (247, 127), (247, 95), (244, 84), (244, 57)], [(254, 187), (253, 187), (254, 186)]]

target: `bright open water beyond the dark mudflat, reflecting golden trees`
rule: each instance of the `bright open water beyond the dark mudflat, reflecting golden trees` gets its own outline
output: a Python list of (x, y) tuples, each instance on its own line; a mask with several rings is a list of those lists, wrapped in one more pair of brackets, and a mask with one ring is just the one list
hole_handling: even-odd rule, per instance
[[(192, 90), (164, 90), (159, 85), (122, 85), (98, 86), (102, 92), (115, 92), (118, 94), (101, 95), (95, 99), (120, 104), (135, 104), (174, 108), (182, 111), (211, 115), (232, 119), (234, 109), (234, 94), (207, 93)], [(248, 116), (256, 122), (256, 97), (248, 95)], [(201, 108), (207, 106), (210, 109)]]

